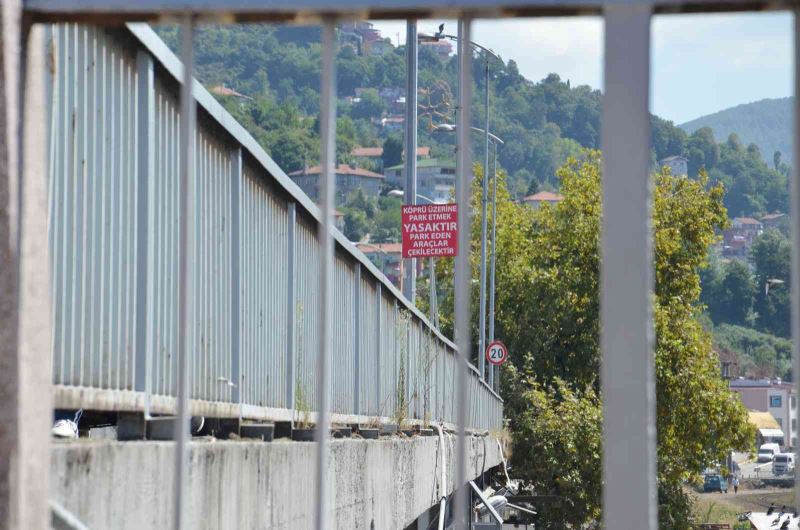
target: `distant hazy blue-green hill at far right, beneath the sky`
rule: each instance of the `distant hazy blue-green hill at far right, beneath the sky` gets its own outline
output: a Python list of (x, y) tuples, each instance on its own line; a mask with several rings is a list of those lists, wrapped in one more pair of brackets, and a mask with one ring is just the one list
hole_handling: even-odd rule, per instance
[(794, 98), (762, 99), (701, 116), (679, 127), (690, 134), (711, 127), (718, 142), (736, 133), (744, 144), (756, 144), (767, 161), (780, 151), (781, 160), (791, 164), (793, 104)]

